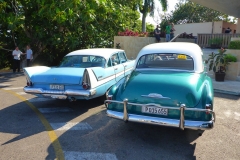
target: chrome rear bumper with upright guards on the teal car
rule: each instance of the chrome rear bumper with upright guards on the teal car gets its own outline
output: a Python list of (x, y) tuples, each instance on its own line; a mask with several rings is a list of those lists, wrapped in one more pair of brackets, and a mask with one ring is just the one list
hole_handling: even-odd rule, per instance
[[(139, 123), (147, 123), (147, 124), (154, 124), (154, 125), (161, 125), (161, 126), (169, 126), (169, 127), (178, 127), (182, 130), (185, 128), (193, 129), (193, 130), (208, 130), (214, 127), (214, 122), (216, 120), (215, 113), (210, 109), (198, 109), (198, 108), (186, 108), (184, 104), (180, 106), (180, 108), (172, 108), (172, 107), (163, 107), (167, 109), (175, 109), (180, 110), (180, 118), (178, 119), (168, 119), (168, 118), (159, 118), (159, 117), (150, 117), (150, 116), (143, 116), (143, 115), (136, 115), (136, 114), (128, 114), (127, 112), (127, 104), (135, 105), (135, 106), (144, 106), (146, 104), (137, 104), (137, 103), (128, 103), (128, 100), (125, 99), (123, 102), (121, 101), (114, 101), (114, 100), (106, 100), (105, 105), (107, 107), (107, 103), (121, 103), (124, 106), (124, 111), (117, 112), (107, 110), (107, 115), (112, 118), (121, 119), (124, 121), (131, 121), (131, 122), (139, 122)], [(153, 105), (153, 104), (151, 104)], [(157, 107), (157, 106), (156, 106)], [(198, 111), (198, 112), (209, 112), (213, 115), (213, 119), (211, 121), (190, 121), (184, 120), (184, 111), (191, 110), (191, 111)]]

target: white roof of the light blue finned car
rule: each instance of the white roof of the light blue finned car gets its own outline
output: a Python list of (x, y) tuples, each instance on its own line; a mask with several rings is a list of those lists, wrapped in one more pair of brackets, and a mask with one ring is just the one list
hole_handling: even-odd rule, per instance
[(124, 50), (121, 49), (115, 49), (115, 48), (89, 48), (89, 49), (80, 49), (73, 51), (66, 56), (73, 56), (73, 55), (94, 55), (94, 56), (101, 56), (104, 57), (106, 60), (111, 57), (113, 53), (117, 52), (124, 52)]

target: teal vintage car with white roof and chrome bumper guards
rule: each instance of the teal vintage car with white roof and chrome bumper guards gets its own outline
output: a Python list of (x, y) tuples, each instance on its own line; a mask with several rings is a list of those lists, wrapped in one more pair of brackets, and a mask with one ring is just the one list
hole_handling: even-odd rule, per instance
[(202, 55), (194, 43), (145, 46), (132, 73), (108, 92), (107, 115), (182, 130), (213, 128), (213, 86)]

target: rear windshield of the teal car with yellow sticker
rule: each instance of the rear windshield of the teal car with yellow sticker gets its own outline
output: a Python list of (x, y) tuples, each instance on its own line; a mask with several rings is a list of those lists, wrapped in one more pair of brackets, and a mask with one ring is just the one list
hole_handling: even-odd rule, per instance
[(194, 70), (192, 57), (186, 54), (153, 53), (139, 58), (136, 68)]

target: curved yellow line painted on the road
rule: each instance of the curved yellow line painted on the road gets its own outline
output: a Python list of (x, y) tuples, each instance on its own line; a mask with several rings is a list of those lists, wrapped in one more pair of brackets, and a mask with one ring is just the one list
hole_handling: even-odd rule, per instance
[(5, 92), (8, 92), (8, 93), (18, 97), (22, 101), (24, 101), (37, 114), (38, 118), (40, 119), (40, 121), (44, 125), (46, 132), (48, 133), (48, 136), (50, 138), (50, 141), (51, 141), (52, 146), (53, 146), (54, 151), (55, 151), (56, 159), (64, 160), (64, 153), (63, 153), (63, 150), (62, 150), (62, 146), (61, 146), (61, 144), (58, 140), (57, 134), (54, 132), (51, 125), (49, 124), (47, 119), (43, 116), (43, 114), (41, 114), (41, 112), (39, 112), (37, 107), (35, 107), (32, 103), (27, 101), (27, 99), (25, 97), (23, 97), (21, 95), (18, 95), (13, 91), (4, 90), (4, 89), (2, 89), (2, 90), (5, 91)]

